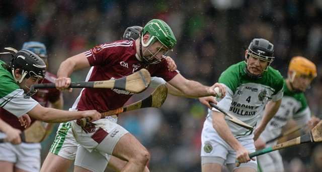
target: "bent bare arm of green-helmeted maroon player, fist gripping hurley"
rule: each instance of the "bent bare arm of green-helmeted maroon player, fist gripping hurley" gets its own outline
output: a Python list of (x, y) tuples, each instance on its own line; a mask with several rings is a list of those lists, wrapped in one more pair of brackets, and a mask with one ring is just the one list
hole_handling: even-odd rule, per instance
[(57, 72), (57, 79), (55, 81), (56, 88), (58, 90), (65, 90), (69, 87), (71, 80), (69, 76), (75, 70), (84, 69), (90, 67), (90, 63), (86, 58), (85, 53), (80, 53), (72, 56), (63, 61)]

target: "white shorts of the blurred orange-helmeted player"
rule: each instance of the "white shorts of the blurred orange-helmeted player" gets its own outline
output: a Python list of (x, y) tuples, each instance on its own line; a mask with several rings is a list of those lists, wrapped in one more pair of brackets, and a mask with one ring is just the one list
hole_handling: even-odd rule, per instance
[(279, 150), (257, 156), (258, 168), (261, 171), (284, 171), (282, 156)]

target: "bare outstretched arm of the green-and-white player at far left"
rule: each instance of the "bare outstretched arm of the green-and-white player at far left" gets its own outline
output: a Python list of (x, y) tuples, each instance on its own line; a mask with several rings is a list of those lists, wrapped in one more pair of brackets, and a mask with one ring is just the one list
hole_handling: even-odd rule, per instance
[(96, 110), (65, 111), (53, 108), (45, 108), (42, 107), (40, 104), (37, 104), (27, 114), (47, 123), (60, 123), (71, 121), (74, 119), (82, 119), (86, 117), (90, 117), (92, 121), (96, 121), (101, 118), (101, 113), (99, 113)]

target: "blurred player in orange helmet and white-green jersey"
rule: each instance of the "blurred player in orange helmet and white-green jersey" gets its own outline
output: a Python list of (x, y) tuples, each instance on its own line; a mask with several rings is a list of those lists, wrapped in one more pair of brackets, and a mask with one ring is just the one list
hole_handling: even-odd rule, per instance
[[(284, 95), (281, 106), (255, 141), (257, 149), (276, 145), (277, 139), (266, 142), (279, 136), (289, 119), (294, 119), (298, 125), (307, 124), (306, 127), (301, 128), (303, 134), (310, 131), (319, 122), (318, 118), (311, 117), (304, 96), (304, 92), (316, 77), (315, 64), (301, 56), (293, 57), (289, 63), (287, 76), (284, 80)], [(260, 121), (261, 119), (258, 123)], [(263, 172), (284, 171), (282, 156), (278, 150), (257, 156), (257, 158), (258, 167)]]

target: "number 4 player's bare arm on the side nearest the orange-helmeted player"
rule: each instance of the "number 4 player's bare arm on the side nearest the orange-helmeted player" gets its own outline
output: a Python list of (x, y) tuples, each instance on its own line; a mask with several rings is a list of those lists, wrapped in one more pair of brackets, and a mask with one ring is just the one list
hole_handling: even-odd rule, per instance
[(265, 107), (264, 115), (262, 122), (258, 127), (256, 127), (256, 130), (254, 132), (254, 140), (256, 141), (258, 137), (261, 135), (261, 133), (264, 131), (266, 125), (268, 122), (273, 118), (273, 116), (276, 114), (278, 111), (278, 108), (280, 107), (282, 102), (282, 99), (278, 101), (269, 101)]

